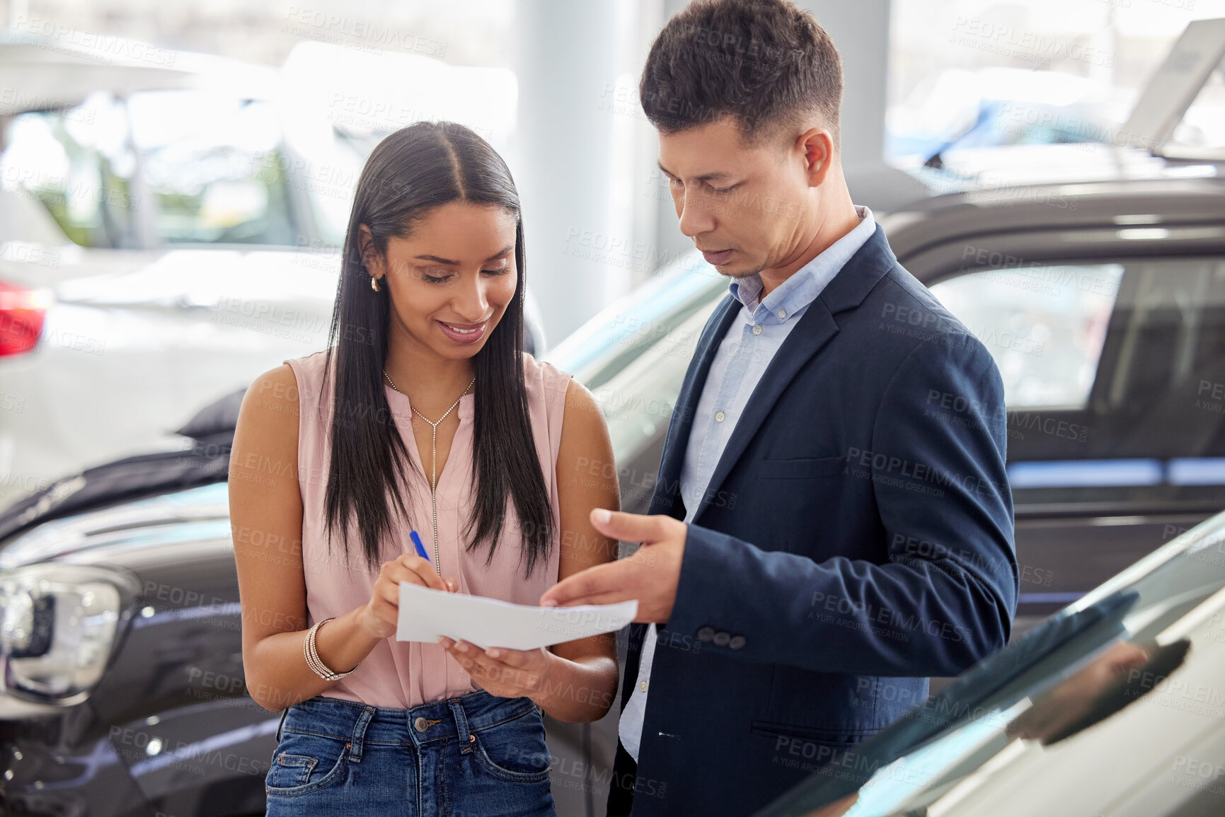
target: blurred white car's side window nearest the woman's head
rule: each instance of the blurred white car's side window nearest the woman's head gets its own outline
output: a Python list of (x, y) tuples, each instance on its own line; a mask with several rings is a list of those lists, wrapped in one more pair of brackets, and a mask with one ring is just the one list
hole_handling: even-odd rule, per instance
[(149, 91), (127, 105), (156, 243), (295, 244), (270, 103)]

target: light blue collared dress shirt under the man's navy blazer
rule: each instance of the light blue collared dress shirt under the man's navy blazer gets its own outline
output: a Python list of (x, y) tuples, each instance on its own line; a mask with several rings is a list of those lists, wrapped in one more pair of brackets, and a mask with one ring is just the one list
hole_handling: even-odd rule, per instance
[[(876, 232), (872, 211), (856, 207), (855, 212), (860, 217), (858, 227), (796, 269), (764, 299), (758, 300), (762, 292), (758, 274), (733, 279), (728, 285), (731, 296), (742, 306), (739, 322), (728, 327), (710, 363), (693, 415), (688, 446), (685, 448), (680, 490), (686, 507), (686, 524), (693, 521), (723, 448), (774, 353), (826, 284), (833, 280), (838, 271)], [(647, 712), (647, 688), (650, 685), (655, 639), (655, 625), (650, 625), (642, 642), (637, 683), (617, 724), (621, 745), (636, 762), (642, 741), (642, 719)]]

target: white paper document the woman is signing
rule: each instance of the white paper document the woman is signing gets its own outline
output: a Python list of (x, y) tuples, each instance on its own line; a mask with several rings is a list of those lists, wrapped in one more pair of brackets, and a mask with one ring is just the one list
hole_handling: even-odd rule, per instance
[(439, 636), (446, 636), (481, 649), (535, 649), (615, 632), (633, 621), (636, 615), (637, 599), (617, 604), (538, 608), (401, 582), (396, 641), (436, 643)]

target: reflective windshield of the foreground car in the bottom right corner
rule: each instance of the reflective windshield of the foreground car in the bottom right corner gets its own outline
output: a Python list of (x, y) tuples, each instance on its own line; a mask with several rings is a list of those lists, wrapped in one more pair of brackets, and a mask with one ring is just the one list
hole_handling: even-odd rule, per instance
[[(1223, 644), (1225, 513), (1180, 533), (872, 739), (853, 748), (782, 745), (780, 763), (813, 773), (760, 813), (1219, 815)], [(889, 679), (877, 686), (878, 697), (897, 695)]]

